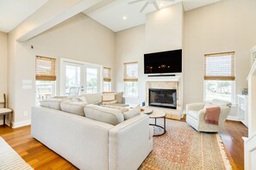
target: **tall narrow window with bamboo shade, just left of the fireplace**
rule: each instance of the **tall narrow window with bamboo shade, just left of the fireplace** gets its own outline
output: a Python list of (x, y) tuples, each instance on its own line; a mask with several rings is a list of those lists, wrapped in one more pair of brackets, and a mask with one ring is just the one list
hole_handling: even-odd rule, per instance
[(124, 64), (124, 95), (138, 96), (138, 63)]

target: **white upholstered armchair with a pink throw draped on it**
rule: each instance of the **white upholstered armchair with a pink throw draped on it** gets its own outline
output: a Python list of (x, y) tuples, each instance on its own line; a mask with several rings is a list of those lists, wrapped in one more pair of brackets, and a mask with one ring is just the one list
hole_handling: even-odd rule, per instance
[(218, 132), (222, 131), (222, 127), (230, 112), (231, 103), (224, 100), (212, 100), (212, 104), (221, 107), (219, 124), (207, 124), (204, 122), (206, 109), (205, 102), (191, 103), (186, 106), (186, 122), (197, 131)]

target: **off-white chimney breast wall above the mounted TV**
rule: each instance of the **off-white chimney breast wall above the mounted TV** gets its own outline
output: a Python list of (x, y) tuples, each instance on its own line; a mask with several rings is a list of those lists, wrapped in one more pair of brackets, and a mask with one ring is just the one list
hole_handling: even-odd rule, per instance
[(181, 49), (183, 44), (182, 3), (147, 14), (146, 52)]

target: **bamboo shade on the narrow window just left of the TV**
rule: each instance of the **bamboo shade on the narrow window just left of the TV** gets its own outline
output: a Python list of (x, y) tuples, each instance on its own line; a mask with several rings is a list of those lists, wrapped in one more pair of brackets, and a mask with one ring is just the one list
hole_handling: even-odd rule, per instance
[(138, 82), (138, 62), (124, 64), (124, 82)]

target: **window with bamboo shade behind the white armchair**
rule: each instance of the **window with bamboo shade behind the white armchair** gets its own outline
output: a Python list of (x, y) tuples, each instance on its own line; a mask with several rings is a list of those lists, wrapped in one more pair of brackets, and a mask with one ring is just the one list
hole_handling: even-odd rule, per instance
[(234, 52), (204, 55), (204, 100), (234, 102)]

